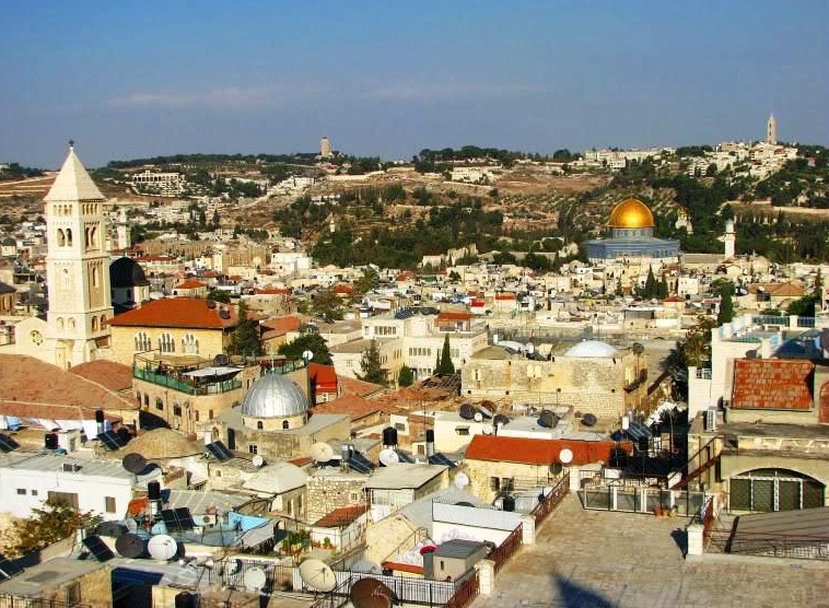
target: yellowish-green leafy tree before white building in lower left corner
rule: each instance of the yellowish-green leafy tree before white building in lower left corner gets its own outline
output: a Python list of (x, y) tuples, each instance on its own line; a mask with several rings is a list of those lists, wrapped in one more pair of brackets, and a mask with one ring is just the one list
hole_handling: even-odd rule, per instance
[(62, 501), (49, 499), (42, 508), (32, 510), (32, 517), (12, 524), (7, 547), (12, 556), (24, 556), (100, 523), (101, 516), (92, 512), (75, 511)]

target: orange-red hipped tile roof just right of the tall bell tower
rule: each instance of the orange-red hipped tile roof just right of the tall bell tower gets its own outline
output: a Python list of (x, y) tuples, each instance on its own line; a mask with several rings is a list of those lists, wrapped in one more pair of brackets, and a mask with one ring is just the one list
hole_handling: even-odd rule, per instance
[[(222, 318), (221, 311), (227, 311), (229, 317)], [(236, 311), (233, 306), (222, 304), (210, 308), (206, 300), (198, 297), (167, 297), (148, 302), (139, 308), (118, 315), (109, 321), (109, 325), (225, 329), (236, 326)]]

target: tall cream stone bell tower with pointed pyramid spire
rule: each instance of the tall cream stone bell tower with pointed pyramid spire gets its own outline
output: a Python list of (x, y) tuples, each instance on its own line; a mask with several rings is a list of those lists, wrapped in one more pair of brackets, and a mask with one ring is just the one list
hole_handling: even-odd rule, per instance
[(49, 287), (47, 335), (63, 369), (96, 359), (109, 346), (113, 317), (104, 195), (69, 142), (69, 155), (44, 198)]

